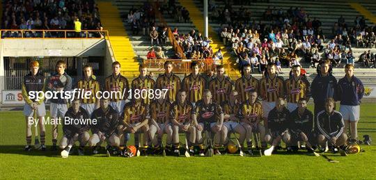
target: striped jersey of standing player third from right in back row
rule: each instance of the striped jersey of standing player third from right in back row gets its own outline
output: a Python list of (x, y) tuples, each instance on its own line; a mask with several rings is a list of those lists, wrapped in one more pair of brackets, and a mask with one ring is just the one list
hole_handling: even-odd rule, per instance
[(300, 98), (308, 101), (311, 95), (310, 84), (306, 77), (299, 76), (298, 79), (295, 79), (294, 76), (290, 76), (290, 79), (285, 81), (285, 95), (290, 103), (297, 103)]

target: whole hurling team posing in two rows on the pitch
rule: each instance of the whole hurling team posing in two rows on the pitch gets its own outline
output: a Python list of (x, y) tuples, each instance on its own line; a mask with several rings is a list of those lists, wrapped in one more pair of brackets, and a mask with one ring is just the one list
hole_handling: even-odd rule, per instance
[[(62, 121), (60, 136), (58, 123), (52, 124), (48, 150), (63, 158), (75, 152), (126, 157), (271, 156), (278, 150), (295, 153), (301, 149), (308, 155), (347, 156), (361, 150), (357, 123), (364, 88), (351, 64), (345, 65), (345, 76), (337, 80), (330, 62), (323, 61), (311, 82), (300, 65), (293, 65), (289, 78), (283, 79), (274, 63), (267, 65), (260, 79), (252, 76), (251, 65), (242, 67), (239, 79), (230, 79), (223, 65), (201, 74), (200, 64), (193, 62), (191, 73), (180, 79), (173, 73), (173, 63), (166, 61), (164, 73), (156, 80), (148, 66), (140, 65), (139, 76), (130, 81), (120, 74), (120, 63), (113, 62), (112, 74), (104, 83), (89, 65), (81, 69), (84, 77), (77, 80), (65, 67), (63, 60), (58, 61), (56, 73), (45, 77), (38, 61), (29, 64), (30, 73), (22, 84), (27, 152), (33, 149), (31, 117), (39, 119), (40, 145), (34, 149), (47, 150), (45, 136), (50, 131), (42, 121), (47, 99), (30, 97), (32, 91), (58, 95), (49, 99), (51, 119), (95, 120), (90, 124)], [(92, 92), (91, 96), (65, 99), (59, 95), (75, 88)], [(95, 96), (99, 91), (124, 96), (99, 98)], [(161, 93), (150, 96), (150, 92)], [(313, 101), (313, 112), (307, 108), (308, 101)]]

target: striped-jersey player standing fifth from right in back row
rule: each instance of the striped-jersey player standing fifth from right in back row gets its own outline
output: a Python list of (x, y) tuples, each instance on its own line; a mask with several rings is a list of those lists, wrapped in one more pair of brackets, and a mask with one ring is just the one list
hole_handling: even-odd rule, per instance
[(235, 90), (240, 93), (240, 104), (249, 98), (249, 91), (258, 91), (258, 83), (258, 80), (251, 76), (251, 65), (244, 65), (242, 69), (242, 77), (235, 82)]

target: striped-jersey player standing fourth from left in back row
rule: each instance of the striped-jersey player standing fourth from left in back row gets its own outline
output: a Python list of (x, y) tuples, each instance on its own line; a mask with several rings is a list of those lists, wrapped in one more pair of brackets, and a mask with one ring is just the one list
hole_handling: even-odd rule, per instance
[(124, 109), (129, 87), (127, 78), (120, 74), (120, 63), (118, 61), (113, 62), (112, 74), (105, 79), (104, 90), (110, 92), (110, 106), (119, 114)]

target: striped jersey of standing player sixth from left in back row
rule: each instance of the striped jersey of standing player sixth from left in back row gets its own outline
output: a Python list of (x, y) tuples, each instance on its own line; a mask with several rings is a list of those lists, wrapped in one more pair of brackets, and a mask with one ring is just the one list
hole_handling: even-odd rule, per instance
[(181, 88), (180, 83), (180, 78), (175, 74), (167, 76), (166, 73), (164, 73), (157, 78), (157, 89), (168, 89), (169, 92), (166, 94), (166, 99), (172, 102), (176, 100), (176, 94)]

